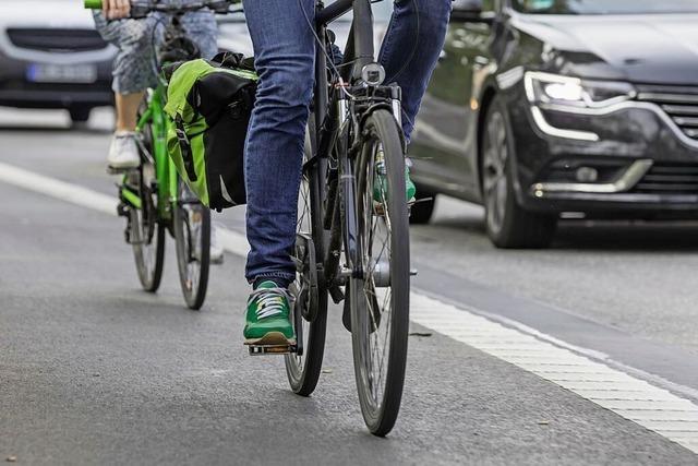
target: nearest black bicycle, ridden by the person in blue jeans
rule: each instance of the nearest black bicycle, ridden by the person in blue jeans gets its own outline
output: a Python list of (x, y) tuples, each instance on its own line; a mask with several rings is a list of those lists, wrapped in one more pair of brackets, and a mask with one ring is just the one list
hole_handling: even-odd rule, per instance
[[(327, 26), (349, 11), (349, 41), (344, 62), (335, 65)], [(345, 300), (361, 411), (369, 430), (385, 435), (400, 407), (409, 331), (401, 93), (383, 84), (385, 71), (375, 62), (370, 0), (328, 7), (318, 0), (309, 27), (317, 47), (293, 253), (297, 344), (251, 351), (286, 349), (291, 389), (310, 395), (321, 373), (328, 297)]]

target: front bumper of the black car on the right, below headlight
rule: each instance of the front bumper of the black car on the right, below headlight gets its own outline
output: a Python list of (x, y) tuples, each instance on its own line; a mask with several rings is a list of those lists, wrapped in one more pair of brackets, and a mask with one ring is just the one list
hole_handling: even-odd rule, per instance
[(524, 93), (510, 99), (514, 188), (525, 208), (698, 216), (698, 138), (666, 107), (629, 100), (580, 110), (534, 107)]

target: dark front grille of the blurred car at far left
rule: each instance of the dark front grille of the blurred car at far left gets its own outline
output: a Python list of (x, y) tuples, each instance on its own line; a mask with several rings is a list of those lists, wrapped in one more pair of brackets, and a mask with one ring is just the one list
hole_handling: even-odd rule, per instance
[(9, 28), (8, 36), (15, 47), (51, 52), (101, 50), (107, 47), (107, 43), (94, 29)]

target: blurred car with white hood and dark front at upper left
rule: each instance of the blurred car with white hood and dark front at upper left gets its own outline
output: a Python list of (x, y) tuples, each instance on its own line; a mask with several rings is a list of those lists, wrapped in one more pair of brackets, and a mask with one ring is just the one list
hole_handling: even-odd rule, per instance
[(64, 108), (86, 121), (113, 101), (115, 55), (82, 0), (0, 2), (0, 105)]

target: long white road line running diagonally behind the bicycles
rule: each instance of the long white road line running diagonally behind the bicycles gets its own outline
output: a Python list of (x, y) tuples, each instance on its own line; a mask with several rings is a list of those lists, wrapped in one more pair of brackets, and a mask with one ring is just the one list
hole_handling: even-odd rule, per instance
[[(116, 215), (117, 201), (111, 196), (7, 164), (0, 163), (0, 181)], [(217, 232), (227, 251), (246, 255), (244, 235), (221, 228)], [(410, 299), (413, 322), (532, 372), (698, 453), (698, 405), (689, 399), (593, 360), (592, 350), (516, 322), (503, 325), (418, 291)]]

